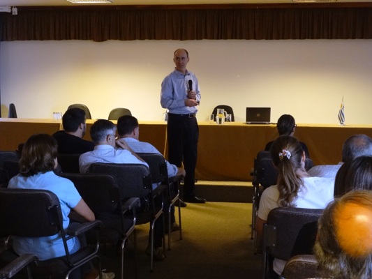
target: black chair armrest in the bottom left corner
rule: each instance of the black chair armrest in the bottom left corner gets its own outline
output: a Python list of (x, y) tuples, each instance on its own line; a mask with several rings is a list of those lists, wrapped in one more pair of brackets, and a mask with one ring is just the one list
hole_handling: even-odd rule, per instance
[[(0, 255), (1, 257), (1, 255)], [(36, 261), (36, 256), (31, 254), (23, 254), (15, 256), (11, 262), (5, 266), (0, 266), (0, 279), (13, 278), (17, 273), (26, 269), (27, 278), (31, 279), (31, 272), (29, 270), (29, 264)]]

